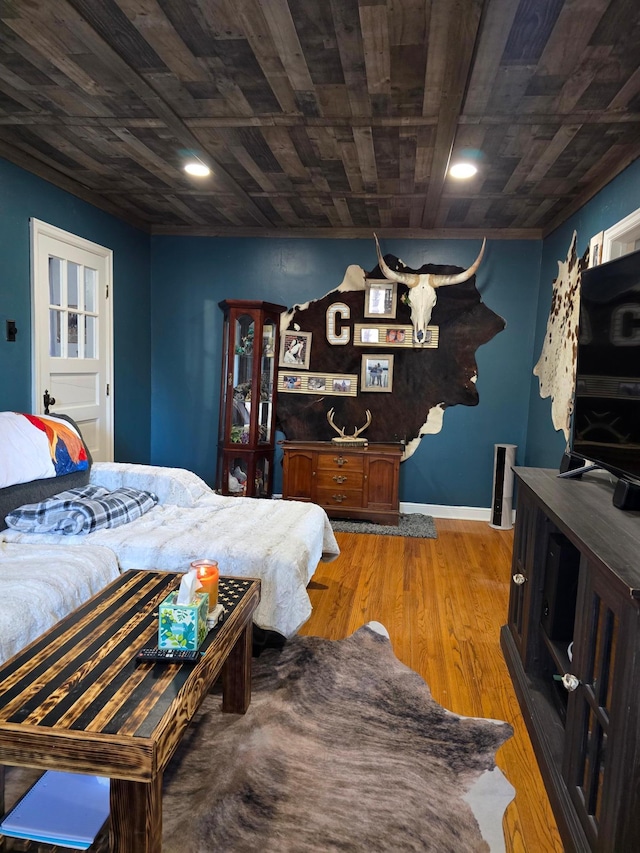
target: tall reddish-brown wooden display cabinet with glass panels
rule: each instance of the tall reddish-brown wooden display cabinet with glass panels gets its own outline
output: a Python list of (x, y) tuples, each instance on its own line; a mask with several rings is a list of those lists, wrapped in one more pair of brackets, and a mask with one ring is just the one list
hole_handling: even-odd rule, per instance
[(216, 488), (223, 495), (273, 492), (275, 400), (284, 305), (226, 299)]

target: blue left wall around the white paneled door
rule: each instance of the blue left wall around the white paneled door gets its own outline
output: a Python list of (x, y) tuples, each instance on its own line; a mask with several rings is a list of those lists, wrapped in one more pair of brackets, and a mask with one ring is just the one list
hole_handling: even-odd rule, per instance
[[(31, 411), (29, 219), (114, 252), (115, 457), (149, 461), (151, 326), (149, 237), (0, 159), (0, 410)], [(6, 321), (15, 320), (15, 343)]]

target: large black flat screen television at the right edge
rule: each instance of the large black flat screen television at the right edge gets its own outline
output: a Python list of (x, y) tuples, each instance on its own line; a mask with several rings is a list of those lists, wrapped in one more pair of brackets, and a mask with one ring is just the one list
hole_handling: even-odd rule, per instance
[(582, 273), (571, 449), (640, 483), (640, 251)]

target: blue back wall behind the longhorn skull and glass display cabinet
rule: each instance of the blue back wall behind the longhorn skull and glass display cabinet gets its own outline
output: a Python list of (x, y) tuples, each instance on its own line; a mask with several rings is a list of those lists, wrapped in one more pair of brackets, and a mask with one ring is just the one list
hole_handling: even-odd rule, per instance
[[(469, 266), (477, 240), (387, 240), (383, 251), (410, 267)], [(403, 501), (489, 506), (493, 446), (526, 443), (529, 377), (542, 244), (490, 241), (477, 274), (483, 301), (506, 329), (477, 351), (480, 403), (456, 406), (441, 433), (423, 438), (401, 466)], [(152, 434), (156, 464), (197, 471), (216, 465), (222, 313), (225, 298), (288, 307), (337, 287), (347, 266), (372, 269), (370, 240), (152, 239)], [(426, 412), (425, 412), (426, 416)], [(280, 466), (276, 466), (280, 491)]]

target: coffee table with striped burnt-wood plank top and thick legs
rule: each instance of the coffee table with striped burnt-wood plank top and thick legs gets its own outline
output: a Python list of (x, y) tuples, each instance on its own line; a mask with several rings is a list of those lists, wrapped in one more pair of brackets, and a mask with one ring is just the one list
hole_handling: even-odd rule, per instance
[(223, 711), (251, 700), (254, 578), (220, 578), (227, 613), (198, 663), (136, 666), (181, 577), (124, 572), (0, 667), (0, 765), (108, 776), (114, 853), (161, 850), (162, 774), (217, 677)]

